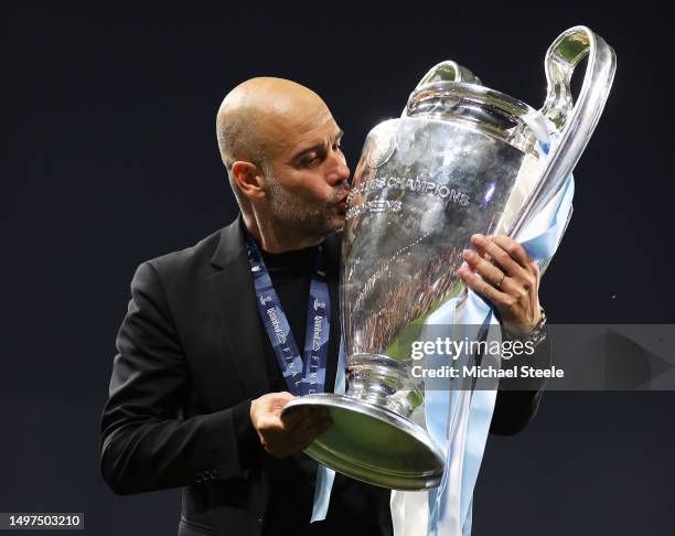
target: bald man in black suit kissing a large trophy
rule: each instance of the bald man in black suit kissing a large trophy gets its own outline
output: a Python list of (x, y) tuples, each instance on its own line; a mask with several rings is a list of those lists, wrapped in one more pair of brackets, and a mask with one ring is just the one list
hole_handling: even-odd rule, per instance
[[(332, 390), (340, 337), (334, 233), (344, 223), (350, 176), (342, 131), (313, 92), (254, 78), (225, 97), (217, 136), (240, 216), (138, 268), (103, 415), (103, 474), (119, 494), (183, 487), (182, 536), (389, 535), (389, 492), (342, 475), (326, 519), (309, 524), (317, 463), (301, 450), (330, 420), (310, 410), (280, 418), (292, 383), (254, 285), (260, 270), (269, 275), (303, 347), (308, 294), (321, 283), (317, 264), (325, 265)], [(539, 320), (535, 265), (513, 240), (474, 239), (461, 277), (494, 301), (510, 330), (529, 332)], [(261, 262), (254, 266), (256, 255)], [(536, 397), (502, 406), (495, 427), (516, 431)]]

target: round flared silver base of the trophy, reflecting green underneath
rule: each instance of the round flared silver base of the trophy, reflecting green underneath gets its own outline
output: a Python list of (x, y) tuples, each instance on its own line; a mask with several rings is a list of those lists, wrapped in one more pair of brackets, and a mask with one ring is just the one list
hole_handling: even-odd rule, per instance
[(443, 453), (415, 422), (373, 404), (328, 393), (296, 398), (282, 414), (308, 406), (326, 408), (333, 420), (304, 449), (310, 458), (389, 490), (428, 490), (440, 484)]

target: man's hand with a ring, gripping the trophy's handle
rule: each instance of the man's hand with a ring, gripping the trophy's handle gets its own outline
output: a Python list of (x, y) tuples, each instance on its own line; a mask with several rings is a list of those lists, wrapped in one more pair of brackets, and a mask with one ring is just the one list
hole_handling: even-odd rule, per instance
[(473, 235), (471, 244), (476, 250), (462, 251), (464, 264), (457, 274), (467, 287), (494, 303), (506, 331), (527, 335), (542, 315), (539, 267), (507, 236)]

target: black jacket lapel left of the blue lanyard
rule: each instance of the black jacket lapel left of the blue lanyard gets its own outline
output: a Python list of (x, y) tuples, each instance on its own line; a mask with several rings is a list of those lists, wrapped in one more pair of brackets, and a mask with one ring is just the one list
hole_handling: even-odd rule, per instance
[(221, 268), (210, 276), (208, 282), (227, 353), (246, 395), (257, 398), (269, 393), (271, 386), (240, 216), (223, 229), (211, 261)]

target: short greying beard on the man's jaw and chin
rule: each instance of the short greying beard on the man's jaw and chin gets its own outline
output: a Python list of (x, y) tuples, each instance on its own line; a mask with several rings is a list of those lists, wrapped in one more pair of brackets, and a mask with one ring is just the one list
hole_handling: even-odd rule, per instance
[(329, 200), (307, 201), (286, 191), (274, 176), (267, 175), (272, 217), (294, 236), (323, 238), (344, 226), (344, 213), (335, 207), (345, 191), (335, 191)]

